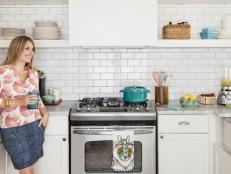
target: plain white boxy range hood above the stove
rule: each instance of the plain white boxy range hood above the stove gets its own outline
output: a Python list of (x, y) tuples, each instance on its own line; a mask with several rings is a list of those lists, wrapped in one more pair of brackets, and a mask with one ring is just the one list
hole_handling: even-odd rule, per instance
[(156, 0), (69, 0), (71, 46), (154, 46)]

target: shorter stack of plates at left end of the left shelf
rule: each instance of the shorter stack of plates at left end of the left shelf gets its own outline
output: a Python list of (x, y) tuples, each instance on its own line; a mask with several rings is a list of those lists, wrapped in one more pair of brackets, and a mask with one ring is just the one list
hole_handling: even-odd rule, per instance
[(1, 28), (1, 35), (3, 39), (13, 39), (17, 36), (23, 36), (26, 34), (25, 29), (21, 28)]

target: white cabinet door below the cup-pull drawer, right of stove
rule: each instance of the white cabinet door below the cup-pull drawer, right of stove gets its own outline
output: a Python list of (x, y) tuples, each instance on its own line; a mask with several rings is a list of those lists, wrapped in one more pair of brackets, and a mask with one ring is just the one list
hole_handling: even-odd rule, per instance
[(207, 134), (159, 135), (159, 174), (208, 174)]

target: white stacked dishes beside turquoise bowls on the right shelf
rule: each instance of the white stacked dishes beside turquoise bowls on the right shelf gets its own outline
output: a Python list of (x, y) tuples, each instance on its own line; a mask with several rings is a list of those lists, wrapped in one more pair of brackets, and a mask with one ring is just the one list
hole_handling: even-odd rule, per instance
[(231, 39), (231, 16), (227, 15), (221, 21), (219, 39)]

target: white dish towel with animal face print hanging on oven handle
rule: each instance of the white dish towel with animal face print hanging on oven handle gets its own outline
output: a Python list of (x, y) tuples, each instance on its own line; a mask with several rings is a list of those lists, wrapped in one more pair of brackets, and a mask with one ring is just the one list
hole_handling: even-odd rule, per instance
[(134, 168), (134, 131), (113, 131), (113, 171)]

